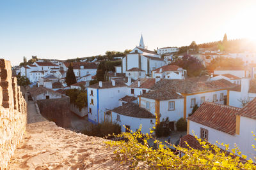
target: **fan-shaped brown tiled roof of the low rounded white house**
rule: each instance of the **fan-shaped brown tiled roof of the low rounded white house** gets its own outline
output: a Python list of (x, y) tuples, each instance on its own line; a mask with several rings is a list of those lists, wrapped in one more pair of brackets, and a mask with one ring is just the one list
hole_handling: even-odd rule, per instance
[(145, 110), (144, 108), (140, 108), (140, 106), (135, 103), (125, 103), (123, 106), (114, 108), (112, 111), (128, 117), (156, 118), (155, 115)]

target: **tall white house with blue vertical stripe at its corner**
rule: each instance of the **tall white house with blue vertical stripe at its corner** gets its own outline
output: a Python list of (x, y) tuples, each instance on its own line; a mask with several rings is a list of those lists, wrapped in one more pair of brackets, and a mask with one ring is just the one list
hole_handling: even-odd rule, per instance
[(87, 88), (88, 120), (93, 124), (104, 122), (104, 112), (119, 106), (119, 99), (127, 95), (122, 81), (99, 81)]

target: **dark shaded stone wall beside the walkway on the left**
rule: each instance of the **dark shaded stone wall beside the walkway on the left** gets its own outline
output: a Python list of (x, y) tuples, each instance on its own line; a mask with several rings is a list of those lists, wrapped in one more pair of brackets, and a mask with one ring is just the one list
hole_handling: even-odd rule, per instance
[(36, 101), (41, 115), (60, 127), (70, 127), (69, 97)]

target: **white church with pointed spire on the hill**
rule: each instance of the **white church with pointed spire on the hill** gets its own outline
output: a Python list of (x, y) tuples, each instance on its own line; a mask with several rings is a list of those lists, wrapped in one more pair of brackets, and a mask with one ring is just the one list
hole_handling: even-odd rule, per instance
[(156, 52), (152, 52), (145, 48), (143, 38), (141, 35), (140, 45), (136, 46), (129, 54), (127, 54), (122, 59), (122, 73), (134, 67), (139, 68), (146, 72), (146, 74), (151, 74), (151, 71), (164, 66), (165, 62), (161, 59), (161, 55)]

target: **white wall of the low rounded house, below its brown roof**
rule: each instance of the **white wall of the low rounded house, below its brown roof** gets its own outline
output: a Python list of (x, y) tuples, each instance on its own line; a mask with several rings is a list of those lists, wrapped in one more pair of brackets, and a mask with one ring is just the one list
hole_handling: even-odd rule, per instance
[[(142, 133), (150, 133), (149, 129), (153, 129), (153, 126), (156, 124), (156, 118), (136, 118), (136, 117), (127, 117), (112, 111), (112, 122), (116, 122), (121, 126), (122, 132), (125, 132), (125, 127), (123, 125), (129, 125), (132, 132), (135, 132), (136, 129), (141, 127)], [(116, 115), (120, 115), (120, 122), (116, 121)], [(152, 123), (150, 123), (152, 120)]]

